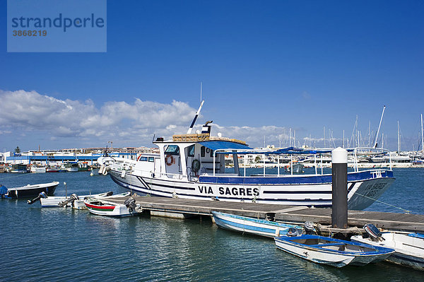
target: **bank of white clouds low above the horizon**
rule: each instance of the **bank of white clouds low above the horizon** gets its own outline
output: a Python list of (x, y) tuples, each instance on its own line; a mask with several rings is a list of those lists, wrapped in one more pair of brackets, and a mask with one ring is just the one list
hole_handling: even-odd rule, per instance
[[(164, 104), (140, 99), (134, 102), (106, 102), (96, 107), (92, 100), (59, 100), (35, 91), (1, 91), (0, 134), (19, 129), (45, 140), (69, 140), (74, 147), (105, 146), (113, 141), (117, 146), (150, 146), (153, 134), (169, 139), (172, 134), (187, 131), (196, 110), (186, 102)], [(195, 128), (200, 129), (201, 124)], [(213, 124), (213, 135), (247, 141), (250, 146), (278, 146), (287, 142), (288, 131), (283, 127), (222, 127)], [(43, 136), (44, 135), (44, 136)], [(40, 137), (41, 136), (41, 137)], [(81, 143), (83, 142), (83, 143)], [(69, 142), (67, 142), (69, 143)], [(282, 143), (284, 145), (284, 143)]]

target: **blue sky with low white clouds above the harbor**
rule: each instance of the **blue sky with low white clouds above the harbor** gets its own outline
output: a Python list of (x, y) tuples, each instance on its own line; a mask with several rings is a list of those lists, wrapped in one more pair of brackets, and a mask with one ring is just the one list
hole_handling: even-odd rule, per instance
[[(399, 120), (402, 148), (417, 148), (423, 12), (422, 1), (107, 1), (106, 53), (7, 53), (1, 28), (0, 150), (151, 146), (187, 129), (200, 81), (199, 124), (252, 146), (290, 127), (300, 145), (323, 146), (323, 127), (339, 145), (357, 114), (365, 138), (386, 105), (388, 147)], [(61, 116), (63, 105), (77, 110)]]

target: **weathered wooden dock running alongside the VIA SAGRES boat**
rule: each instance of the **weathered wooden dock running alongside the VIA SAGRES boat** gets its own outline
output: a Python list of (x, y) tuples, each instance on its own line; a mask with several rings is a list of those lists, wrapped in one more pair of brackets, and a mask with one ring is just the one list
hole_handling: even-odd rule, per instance
[[(125, 199), (112, 198), (110, 201), (123, 204)], [(331, 225), (331, 208), (174, 199), (155, 196), (134, 196), (134, 199), (136, 200), (136, 204), (140, 204), (143, 210), (153, 213), (211, 216), (212, 211), (220, 211), (253, 218), (265, 218), (267, 213), (275, 213), (276, 221), (290, 223), (312, 221), (323, 225)], [(366, 223), (372, 223), (379, 228), (424, 233), (424, 215), (383, 213), (377, 211), (348, 211), (349, 226), (362, 228)]]

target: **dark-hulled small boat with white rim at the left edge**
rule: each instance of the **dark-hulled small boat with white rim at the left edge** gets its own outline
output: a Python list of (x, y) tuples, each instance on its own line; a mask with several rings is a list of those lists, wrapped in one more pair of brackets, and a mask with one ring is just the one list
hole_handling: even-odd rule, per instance
[(3, 192), (1, 192), (0, 196), (2, 198), (23, 198), (29, 196), (37, 196), (41, 192), (45, 192), (47, 195), (52, 195), (54, 193), (54, 190), (56, 190), (57, 185), (59, 185), (59, 182), (54, 181), (42, 184), (28, 184), (23, 187), (13, 188), (6, 188), (3, 186), (1, 188), (4, 189), (2, 189)]

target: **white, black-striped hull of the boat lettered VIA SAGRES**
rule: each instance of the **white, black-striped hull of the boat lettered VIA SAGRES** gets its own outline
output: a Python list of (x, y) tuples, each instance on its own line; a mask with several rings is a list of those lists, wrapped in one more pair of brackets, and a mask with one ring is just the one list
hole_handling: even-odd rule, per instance
[[(331, 206), (331, 175), (288, 177), (199, 177), (187, 181), (152, 173), (122, 172), (112, 167), (110, 177), (120, 186), (154, 196), (184, 199), (219, 199), (263, 204)], [(374, 203), (394, 182), (393, 172), (379, 170), (350, 173), (348, 208), (362, 210)]]

